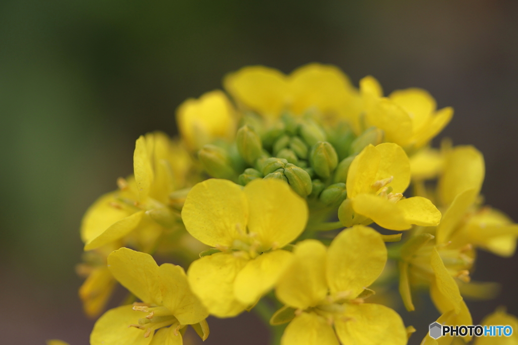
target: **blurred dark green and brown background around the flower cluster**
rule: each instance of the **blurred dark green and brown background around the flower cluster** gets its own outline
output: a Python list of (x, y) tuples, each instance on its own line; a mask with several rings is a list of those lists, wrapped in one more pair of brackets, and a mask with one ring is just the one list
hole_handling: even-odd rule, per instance
[[(0, 2), (0, 334), (3, 344), (88, 344), (74, 273), (85, 209), (132, 172), (139, 134), (176, 131), (175, 109), (228, 71), (335, 64), (354, 83), (418, 86), (455, 115), (440, 137), (485, 156), (486, 202), (518, 220), (518, 2)], [(438, 141), (436, 140), (436, 143)], [(518, 314), (518, 259), (480, 253), (503, 284), (474, 322)], [(436, 312), (404, 313), (419, 343)], [(211, 320), (208, 344), (265, 344), (252, 314)]]

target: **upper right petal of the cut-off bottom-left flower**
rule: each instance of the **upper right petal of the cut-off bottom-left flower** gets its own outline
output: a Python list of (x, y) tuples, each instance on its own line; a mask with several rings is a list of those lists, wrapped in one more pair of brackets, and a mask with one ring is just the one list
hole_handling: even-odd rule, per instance
[(171, 311), (181, 325), (205, 320), (209, 313), (192, 293), (183, 268), (165, 263), (159, 268), (162, 304)]

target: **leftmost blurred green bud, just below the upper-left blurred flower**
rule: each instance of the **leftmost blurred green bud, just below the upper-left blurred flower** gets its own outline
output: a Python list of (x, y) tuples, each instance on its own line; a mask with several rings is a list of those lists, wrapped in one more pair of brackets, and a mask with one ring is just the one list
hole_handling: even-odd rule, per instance
[(232, 169), (228, 154), (223, 148), (207, 144), (198, 151), (198, 159), (210, 176), (235, 181), (236, 172)]

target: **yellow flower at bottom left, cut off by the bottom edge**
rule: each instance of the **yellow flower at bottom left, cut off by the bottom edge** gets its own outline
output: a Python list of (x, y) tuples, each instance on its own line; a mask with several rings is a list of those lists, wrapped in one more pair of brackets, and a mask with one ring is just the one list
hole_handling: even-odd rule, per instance
[(208, 313), (191, 292), (182, 267), (159, 267), (149, 254), (127, 248), (112, 252), (108, 267), (142, 303), (107, 311), (94, 325), (92, 345), (182, 344), (180, 330), (186, 325), (206, 328)]

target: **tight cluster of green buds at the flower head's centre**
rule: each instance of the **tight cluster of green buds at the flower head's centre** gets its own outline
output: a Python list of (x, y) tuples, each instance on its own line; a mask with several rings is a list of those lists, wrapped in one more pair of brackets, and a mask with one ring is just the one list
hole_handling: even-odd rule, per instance
[(231, 144), (205, 145), (198, 158), (212, 177), (244, 186), (256, 178), (278, 178), (301, 197), (338, 207), (347, 198), (346, 181), (354, 157), (383, 140), (368, 128), (358, 137), (346, 123), (324, 126), (310, 114), (285, 113), (268, 126), (253, 114), (243, 119)]

